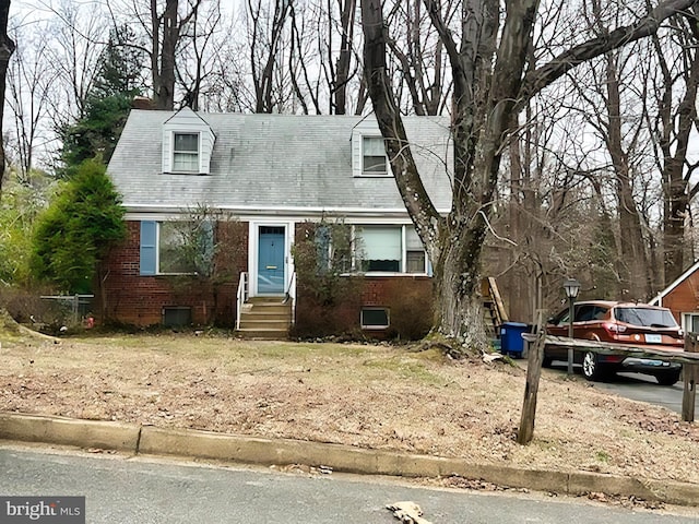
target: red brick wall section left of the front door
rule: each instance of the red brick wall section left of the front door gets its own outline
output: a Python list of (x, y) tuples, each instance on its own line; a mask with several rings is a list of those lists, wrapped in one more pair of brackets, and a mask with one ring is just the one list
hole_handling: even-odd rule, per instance
[(217, 240), (235, 239), (235, 246), (216, 254), (211, 278), (140, 275), (140, 223), (128, 222), (127, 229), (127, 240), (112, 250), (100, 271), (103, 285), (95, 297), (102, 305), (99, 321), (147, 326), (163, 322), (164, 308), (189, 307), (194, 324), (235, 323), (238, 276), (247, 271), (247, 224), (217, 224)]

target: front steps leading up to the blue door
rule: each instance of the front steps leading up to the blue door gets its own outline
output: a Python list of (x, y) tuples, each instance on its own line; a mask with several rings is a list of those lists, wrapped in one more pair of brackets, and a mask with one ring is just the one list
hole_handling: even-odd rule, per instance
[(254, 297), (242, 305), (238, 334), (245, 338), (285, 341), (292, 325), (292, 301), (284, 297)]

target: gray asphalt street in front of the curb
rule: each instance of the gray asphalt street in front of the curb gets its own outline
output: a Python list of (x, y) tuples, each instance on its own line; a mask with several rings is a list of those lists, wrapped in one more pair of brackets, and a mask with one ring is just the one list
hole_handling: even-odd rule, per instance
[(587, 499), (415, 487), (386, 478), (309, 476), (120, 455), (0, 445), (0, 495), (85, 496), (91, 524), (398, 523), (411, 500), (434, 524), (698, 524), (696, 509), (631, 510)]

